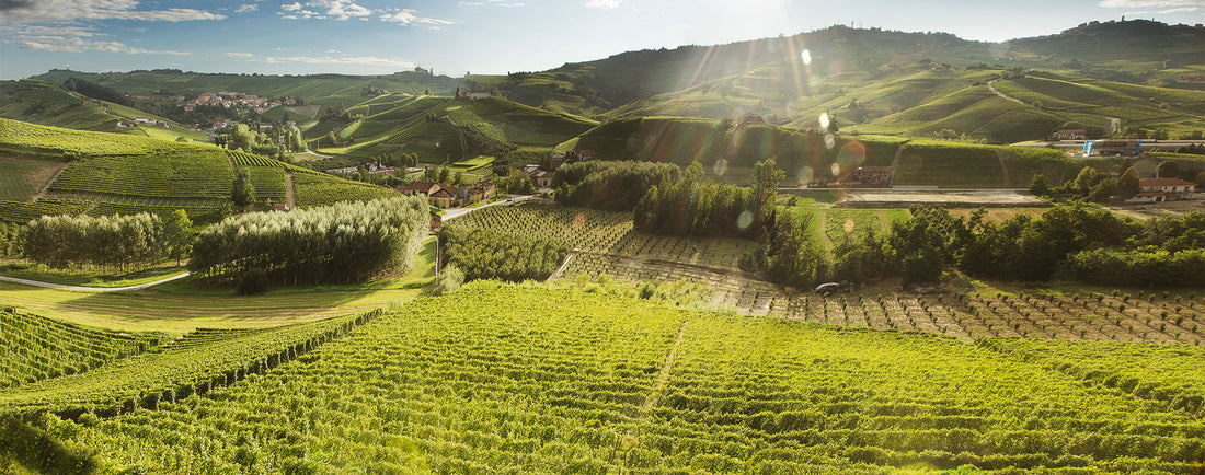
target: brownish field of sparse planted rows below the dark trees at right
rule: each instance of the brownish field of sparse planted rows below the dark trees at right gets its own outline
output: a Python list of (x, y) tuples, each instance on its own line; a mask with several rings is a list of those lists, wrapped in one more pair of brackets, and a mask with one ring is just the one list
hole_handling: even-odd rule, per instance
[(780, 296), (771, 315), (952, 337), (1145, 342), (1205, 346), (1205, 299), (1117, 292), (969, 293), (965, 297), (856, 293)]

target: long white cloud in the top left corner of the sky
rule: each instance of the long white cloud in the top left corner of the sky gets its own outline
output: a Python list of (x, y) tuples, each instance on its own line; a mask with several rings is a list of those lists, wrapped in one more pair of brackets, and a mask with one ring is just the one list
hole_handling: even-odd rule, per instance
[(0, 22), (66, 23), (77, 19), (137, 19), (189, 22), (223, 19), (224, 14), (195, 8), (135, 10), (137, 0), (0, 0)]

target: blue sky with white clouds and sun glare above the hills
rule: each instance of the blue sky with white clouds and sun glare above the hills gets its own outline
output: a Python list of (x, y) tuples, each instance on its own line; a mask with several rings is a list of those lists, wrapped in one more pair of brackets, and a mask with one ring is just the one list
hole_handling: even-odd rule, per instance
[(377, 75), (416, 66), (460, 77), (834, 24), (995, 42), (1122, 16), (1205, 23), (1205, 0), (0, 0), (0, 79), (51, 69)]

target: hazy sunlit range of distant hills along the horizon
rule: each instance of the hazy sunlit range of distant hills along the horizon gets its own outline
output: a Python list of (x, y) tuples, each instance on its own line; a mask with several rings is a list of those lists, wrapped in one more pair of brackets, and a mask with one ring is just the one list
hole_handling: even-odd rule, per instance
[[(1023, 90), (1016, 84), (1000, 84), (1029, 101), (987, 85), (997, 79), (1013, 81), (1017, 72), (1024, 76), (1030, 70), (1053, 75), (1058, 82), (1030, 81)], [(1177, 81), (1197, 76), (1205, 76), (1205, 28), (1136, 19), (1087, 22), (1058, 34), (1001, 43), (969, 41), (947, 32), (835, 25), (728, 44), (625, 52), (540, 72), (464, 78), (427, 71), (264, 76), (178, 70), (122, 73), (53, 70), (37, 78), (63, 83), (81, 77), (140, 95), (234, 90), (296, 96), (321, 108), (364, 102), (371, 99), (363, 95), (369, 88), (445, 96), (455, 90), (486, 89), (522, 105), (598, 120), (645, 115), (722, 119), (754, 114), (804, 129), (828, 113), (840, 126), (853, 131), (903, 136), (954, 133), (1006, 143), (1044, 138), (1050, 129), (1068, 123), (1109, 127), (1118, 118), (1122, 127), (1133, 125), (1150, 133), (1159, 130), (1186, 133), (1205, 127), (1205, 113), (1198, 107), (1205, 103), (1205, 96), (1200, 96), (1205, 94), (1205, 84)], [(1118, 103), (1129, 107), (1147, 101), (1154, 108), (1127, 117), (1125, 111), (1110, 109), (1111, 99), (1094, 89), (1098, 81), (1168, 91), (1125, 91)], [(1089, 96), (1088, 102), (1082, 102), (1081, 93)], [(965, 113), (950, 119), (959, 111)], [(299, 112), (313, 118), (319, 111), (293, 109), (290, 118), (298, 119)]]

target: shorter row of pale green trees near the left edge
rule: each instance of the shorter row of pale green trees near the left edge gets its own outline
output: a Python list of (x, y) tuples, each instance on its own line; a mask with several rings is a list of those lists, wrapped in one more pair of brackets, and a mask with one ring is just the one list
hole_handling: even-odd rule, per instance
[(193, 224), (177, 209), (160, 216), (41, 216), (19, 231), (20, 255), (53, 268), (99, 266), (128, 269), (188, 255)]

